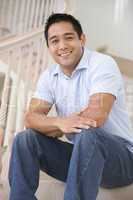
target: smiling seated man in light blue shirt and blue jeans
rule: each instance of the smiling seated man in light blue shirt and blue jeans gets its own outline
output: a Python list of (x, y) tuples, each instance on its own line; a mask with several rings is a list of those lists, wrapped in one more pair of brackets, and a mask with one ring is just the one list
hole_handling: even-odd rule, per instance
[[(133, 182), (133, 135), (115, 61), (85, 48), (81, 25), (67, 14), (45, 26), (57, 64), (41, 75), (14, 139), (10, 200), (35, 200), (39, 170), (66, 182), (64, 200), (96, 200), (100, 186)], [(48, 117), (55, 105), (57, 117)], [(70, 143), (59, 140), (62, 135)]]

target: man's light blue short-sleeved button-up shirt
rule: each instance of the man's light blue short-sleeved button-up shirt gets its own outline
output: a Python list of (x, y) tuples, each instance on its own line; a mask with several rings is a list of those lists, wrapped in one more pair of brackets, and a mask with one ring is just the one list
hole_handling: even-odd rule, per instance
[(84, 49), (71, 77), (66, 76), (58, 64), (53, 65), (40, 76), (34, 97), (55, 104), (57, 115), (69, 116), (87, 107), (90, 96), (96, 93), (116, 97), (102, 128), (133, 141), (122, 76), (110, 56)]

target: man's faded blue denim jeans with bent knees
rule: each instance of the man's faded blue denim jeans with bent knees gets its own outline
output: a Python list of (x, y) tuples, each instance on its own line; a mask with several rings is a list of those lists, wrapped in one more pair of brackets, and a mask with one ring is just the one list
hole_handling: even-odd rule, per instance
[(66, 182), (64, 200), (96, 200), (99, 186), (133, 183), (132, 149), (100, 128), (82, 130), (74, 145), (27, 129), (13, 143), (10, 200), (36, 200), (40, 170)]

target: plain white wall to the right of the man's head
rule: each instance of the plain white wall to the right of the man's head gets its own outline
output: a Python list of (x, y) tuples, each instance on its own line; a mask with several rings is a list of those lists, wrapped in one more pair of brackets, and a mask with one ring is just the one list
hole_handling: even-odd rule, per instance
[(114, 22), (116, 0), (77, 0), (75, 16), (80, 20), (91, 49), (107, 45), (108, 52), (133, 60), (133, 0), (126, 0), (124, 16)]

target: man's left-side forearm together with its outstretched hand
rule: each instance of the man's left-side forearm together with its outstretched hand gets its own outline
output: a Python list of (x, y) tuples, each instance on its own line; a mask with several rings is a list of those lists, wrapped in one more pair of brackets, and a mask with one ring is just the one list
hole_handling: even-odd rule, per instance
[(68, 117), (47, 117), (43, 113), (28, 112), (25, 118), (26, 128), (35, 129), (52, 137), (80, 133), (82, 129), (88, 129), (93, 123), (93, 120), (90, 121), (90, 119), (77, 114)]

